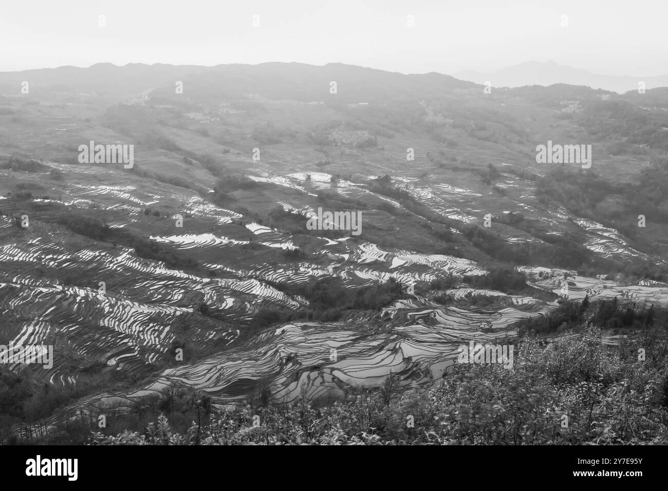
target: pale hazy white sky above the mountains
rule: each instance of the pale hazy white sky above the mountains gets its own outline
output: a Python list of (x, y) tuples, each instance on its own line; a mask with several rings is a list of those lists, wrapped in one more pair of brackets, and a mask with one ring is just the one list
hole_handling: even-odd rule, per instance
[(338, 61), (454, 73), (552, 59), (605, 75), (668, 73), (668, 0), (1, 1), (0, 71)]

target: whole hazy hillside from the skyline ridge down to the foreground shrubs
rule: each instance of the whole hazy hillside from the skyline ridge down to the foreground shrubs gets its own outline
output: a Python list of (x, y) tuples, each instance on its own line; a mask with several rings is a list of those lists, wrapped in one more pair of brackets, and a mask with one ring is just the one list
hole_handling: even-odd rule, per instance
[[(360, 391), (449, 414), (462, 344), (544, 336), (585, 297), (667, 306), (668, 91), (604, 95), (340, 63), (0, 73), (0, 344), (53, 346), (52, 367), (3, 366), (3, 439), (71, 443), (82, 415), (139, 431), (176, 392), (207, 418)], [(82, 162), (90, 142), (133, 160)], [(538, 163), (548, 142), (591, 145), (591, 167)], [(359, 234), (313, 229), (319, 208)], [(600, 359), (639, 328), (599, 327)], [(436, 434), (478, 438), (457, 431)]]

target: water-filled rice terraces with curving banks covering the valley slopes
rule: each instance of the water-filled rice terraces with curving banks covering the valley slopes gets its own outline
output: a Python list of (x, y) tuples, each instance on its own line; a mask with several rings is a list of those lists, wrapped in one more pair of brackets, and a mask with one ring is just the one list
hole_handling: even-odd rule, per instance
[[(452, 80), (440, 96), (354, 113), (251, 102), (245, 88), (179, 100), (166, 82), (140, 100), (1, 96), (20, 118), (0, 116), (0, 344), (53, 345), (53, 367), (30, 377), (81, 387), (57, 415), (75, 418), (131, 414), (168, 387), (217, 407), (259, 387), (274, 403), (345, 399), (390, 376), (396, 393), (425, 389), (458, 346), (515, 340), (518, 321), (564, 300), (668, 305), (664, 204), (638, 232), (630, 208), (596, 219), (620, 188), (578, 215), (546, 194), (552, 170), (534, 148), (587, 135), (585, 122)], [(434, 108), (452, 124), (428, 120)], [(339, 138), (355, 132), (374, 144)], [(626, 170), (649, 162), (606, 154), (610, 138), (597, 144), (600, 179), (635, 185)], [(133, 144), (134, 168), (78, 164), (93, 139)], [(361, 235), (309, 230), (319, 208), (361, 212)], [(526, 281), (485, 285), (500, 267)]]

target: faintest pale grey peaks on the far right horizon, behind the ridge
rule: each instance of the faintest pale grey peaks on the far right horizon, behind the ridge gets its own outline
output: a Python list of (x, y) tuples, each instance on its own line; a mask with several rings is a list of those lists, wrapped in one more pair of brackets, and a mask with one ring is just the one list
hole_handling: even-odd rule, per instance
[(492, 73), (464, 70), (452, 76), (484, 84), (490, 81), (492, 87), (551, 86), (552, 84), (570, 84), (588, 86), (593, 89), (604, 89), (623, 94), (629, 90), (637, 90), (640, 81), (645, 82), (647, 90), (668, 86), (668, 74), (654, 77), (632, 77), (630, 75), (599, 75), (581, 68), (558, 65), (554, 61), (541, 63), (527, 61), (512, 67), (502, 68)]

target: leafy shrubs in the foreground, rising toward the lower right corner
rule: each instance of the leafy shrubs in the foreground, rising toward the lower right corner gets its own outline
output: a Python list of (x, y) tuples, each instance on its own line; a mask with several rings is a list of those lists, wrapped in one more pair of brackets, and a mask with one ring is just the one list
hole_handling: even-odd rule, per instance
[[(240, 406), (208, 424), (170, 428), (164, 415), (143, 434), (94, 434), (104, 445), (536, 445), (668, 442), (665, 329), (605, 347), (592, 329), (545, 346), (530, 337), (512, 369), (456, 365), (431, 391), (398, 397), (396, 379), (328, 405)], [(647, 349), (646, 361), (637, 350)], [(564, 426), (564, 416), (567, 425)], [(407, 422), (412, 421), (414, 428)], [(254, 422), (257, 422), (254, 424)]]

